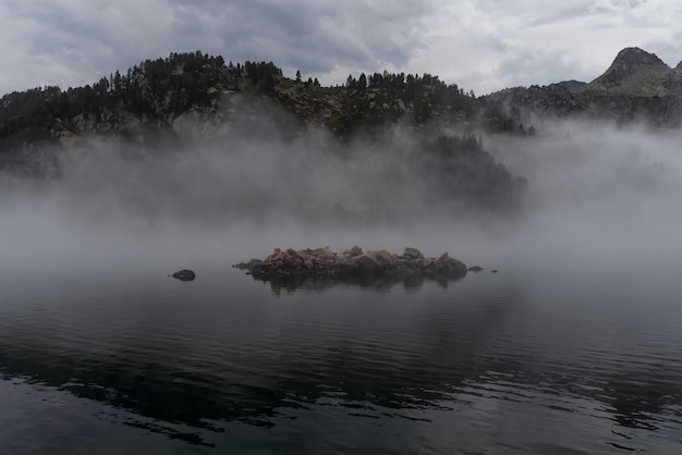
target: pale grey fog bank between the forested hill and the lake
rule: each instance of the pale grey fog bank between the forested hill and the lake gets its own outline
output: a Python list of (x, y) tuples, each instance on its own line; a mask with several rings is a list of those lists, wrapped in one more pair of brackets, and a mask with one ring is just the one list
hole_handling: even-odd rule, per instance
[[(89, 137), (48, 180), (3, 174), (0, 271), (222, 266), (273, 247), (449, 251), (502, 271), (679, 267), (680, 132), (564, 122), (534, 137), (483, 135), (528, 181), (514, 214), (434, 195), (418, 140), (394, 127), (340, 146), (256, 119), (150, 146)], [(417, 164), (415, 164), (417, 163)]]

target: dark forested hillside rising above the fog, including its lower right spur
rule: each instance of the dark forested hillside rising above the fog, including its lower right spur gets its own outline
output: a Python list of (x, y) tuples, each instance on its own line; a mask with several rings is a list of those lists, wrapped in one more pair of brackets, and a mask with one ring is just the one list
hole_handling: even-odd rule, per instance
[[(392, 153), (395, 144), (386, 140), (395, 128), (416, 140), (406, 155)], [(328, 137), (324, 148), (339, 157), (354, 144), (366, 144), (364, 153), (379, 152), (386, 163), (388, 171), (378, 171), (380, 182), (385, 187), (397, 185), (386, 200), (399, 198), (399, 182), (424, 182), (418, 192), (447, 210), (473, 207), (499, 212), (520, 207), (526, 182), (497, 163), (476, 134), (534, 133), (532, 125), (524, 128), (496, 106), (430, 74), (350, 75), (343, 85), (322, 87), (300, 73), (288, 78), (271, 62), (226, 63), (197, 51), (146, 60), (92, 86), (51, 86), (3, 96), (0, 167), (13, 174), (59, 177), (63, 156), (73, 165), (83, 161), (77, 157), (101, 149), (93, 140), (102, 138), (127, 144), (127, 157), (149, 158), (153, 150), (158, 158), (169, 150), (191, 152), (210, 144), (229, 158), (238, 138), (261, 142), (268, 131), (277, 132), (279, 142), (299, 140), (312, 148), (318, 145), (301, 138), (324, 133)], [(117, 147), (111, 153), (121, 150)], [(272, 202), (267, 197), (258, 200), (261, 206)], [(386, 200), (377, 202), (375, 218), (400, 210), (399, 200)]]

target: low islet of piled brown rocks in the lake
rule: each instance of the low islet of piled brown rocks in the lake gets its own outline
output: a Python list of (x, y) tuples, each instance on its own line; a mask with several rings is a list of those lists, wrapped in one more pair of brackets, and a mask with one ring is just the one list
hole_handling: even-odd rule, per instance
[(331, 276), (339, 279), (362, 276), (428, 276), (458, 279), (466, 275), (466, 266), (443, 253), (438, 258), (425, 258), (416, 248), (405, 248), (402, 255), (385, 249), (363, 251), (354, 246), (343, 253), (331, 248), (282, 250), (275, 248), (265, 259), (252, 259), (233, 266), (247, 270), (263, 280), (283, 276)]

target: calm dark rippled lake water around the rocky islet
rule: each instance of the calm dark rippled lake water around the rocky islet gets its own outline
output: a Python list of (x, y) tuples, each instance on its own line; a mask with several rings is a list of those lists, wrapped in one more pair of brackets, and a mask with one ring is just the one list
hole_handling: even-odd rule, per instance
[(0, 453), (682, 453), (674, 270), (280, 288), (231, 262), (3, 271)]

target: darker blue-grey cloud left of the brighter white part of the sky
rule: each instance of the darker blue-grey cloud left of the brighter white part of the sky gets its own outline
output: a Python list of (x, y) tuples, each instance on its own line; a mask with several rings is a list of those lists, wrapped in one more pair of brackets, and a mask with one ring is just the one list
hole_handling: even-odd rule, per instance
[(336, 67), (405, 66), (423, 46), (433, 2), (352, 0), (160, 1), (70, 0), (0, 5), (3, 54), (13, 71), (0, 90), (82, 85), (172, 51), (273, 61), (324, 76)]

